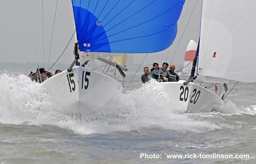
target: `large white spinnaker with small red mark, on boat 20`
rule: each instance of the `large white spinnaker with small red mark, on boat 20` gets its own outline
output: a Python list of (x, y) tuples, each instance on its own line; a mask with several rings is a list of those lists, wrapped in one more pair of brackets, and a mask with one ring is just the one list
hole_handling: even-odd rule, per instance
[(203, 0), (197, 73), (256, 82), (256, 1)]

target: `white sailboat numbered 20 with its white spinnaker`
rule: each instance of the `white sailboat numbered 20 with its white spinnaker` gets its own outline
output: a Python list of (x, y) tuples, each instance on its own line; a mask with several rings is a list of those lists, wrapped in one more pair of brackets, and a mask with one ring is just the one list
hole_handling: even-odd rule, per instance
[[(196, 73), (190, 77), (216, 83), (256, 82), (255, 9), (252, 0), (203, 0), (198, 60), (193, 64)], [(223, 104), (219, 96), (195, 82), (159, 85), (180, 111), (209, 112), (211, 105)]]

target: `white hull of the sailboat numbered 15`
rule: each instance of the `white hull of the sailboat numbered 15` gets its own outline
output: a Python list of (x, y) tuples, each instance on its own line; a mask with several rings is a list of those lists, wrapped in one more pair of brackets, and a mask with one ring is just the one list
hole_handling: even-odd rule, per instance
[(114, 95), (124, 91), (116, 80), (88, 68), (76, 66), (43, 83), (58, 109), (64, 112), (95, 111)]

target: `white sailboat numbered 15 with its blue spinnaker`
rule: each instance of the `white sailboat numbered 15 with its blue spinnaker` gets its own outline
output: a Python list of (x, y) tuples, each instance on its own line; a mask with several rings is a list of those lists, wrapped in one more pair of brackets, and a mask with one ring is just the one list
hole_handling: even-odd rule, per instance
[(185, 0), (72, 0), (77, 34), (75, 60), (68, 70), (42, 82), (57, 108), (65, 112), (95, 111), (122, 93), (123, 86), (110, 74), (79, 66), (79, 56), (81, 64), (99, 59), (125, 76), (121, 70), (127, 70), (126, 53), (153, 53), (172, 44), (184, 3)]

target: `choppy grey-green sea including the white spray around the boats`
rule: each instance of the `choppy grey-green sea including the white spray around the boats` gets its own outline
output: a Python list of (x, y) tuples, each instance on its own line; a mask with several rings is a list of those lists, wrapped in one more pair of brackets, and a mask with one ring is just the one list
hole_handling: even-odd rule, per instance
[(67, 115), (42, 85), (2, 72), (0, 163), (255, 163), (255, 92), (255, 83), (239, 82), (212, 112), (179, 113), (137, 75), (103, 108)]

